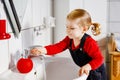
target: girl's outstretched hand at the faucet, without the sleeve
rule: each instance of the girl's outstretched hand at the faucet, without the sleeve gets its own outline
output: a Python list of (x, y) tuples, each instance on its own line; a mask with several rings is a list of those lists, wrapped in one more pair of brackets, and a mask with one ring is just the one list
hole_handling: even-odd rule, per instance
[(46, 54), (47, 50), (44, 47), (35, 47), (30, 50), (30, 53), (33, 55), (42, 55), (42, 54)]

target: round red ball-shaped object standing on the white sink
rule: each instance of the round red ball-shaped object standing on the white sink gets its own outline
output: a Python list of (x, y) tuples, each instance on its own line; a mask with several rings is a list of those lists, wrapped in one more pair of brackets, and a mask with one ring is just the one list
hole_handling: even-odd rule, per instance
[(30, 58), (20, 58), (17, 62), (17, 69), (20, 73), (28, 73), (33, 68), (33, 62)]

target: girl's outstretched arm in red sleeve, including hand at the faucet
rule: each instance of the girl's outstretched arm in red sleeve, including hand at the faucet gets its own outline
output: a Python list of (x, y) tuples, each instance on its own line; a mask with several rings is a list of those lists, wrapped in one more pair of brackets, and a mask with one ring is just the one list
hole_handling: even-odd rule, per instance
[(56, 44), (47, 45), (45, 47), (35, 47), (35, 48), (31, 49), (31, 54), (33, 54), (33, 55), (57, 54), (57, 53), (62, 52), (68, 48), (69, 41), (70, 41), (70, 39), (68, 37), (65, 37), (62, 41), (60, 41)]

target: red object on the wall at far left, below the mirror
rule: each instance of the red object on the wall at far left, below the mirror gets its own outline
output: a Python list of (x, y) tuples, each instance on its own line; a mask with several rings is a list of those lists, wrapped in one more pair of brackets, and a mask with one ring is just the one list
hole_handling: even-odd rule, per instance
[(6, 33), (6, 20), (0, 20), (0, 40), (9, 39), (11, 36)]

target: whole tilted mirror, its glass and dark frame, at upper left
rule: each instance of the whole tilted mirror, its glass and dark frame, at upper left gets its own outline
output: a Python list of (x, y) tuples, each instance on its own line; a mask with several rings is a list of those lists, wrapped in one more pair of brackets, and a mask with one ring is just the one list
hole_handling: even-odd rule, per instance
[(27, 0), (1, 0), (1, 2), (14, 36), (19, 37)]

